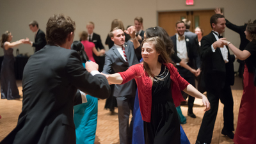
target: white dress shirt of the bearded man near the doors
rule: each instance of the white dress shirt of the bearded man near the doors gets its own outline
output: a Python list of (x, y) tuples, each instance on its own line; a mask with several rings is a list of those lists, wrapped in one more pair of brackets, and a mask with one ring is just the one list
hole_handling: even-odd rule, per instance
[[(188, 51), (187, 51), (187, 45), (185, 41), (185, 35), (183, 35), (184, 38), (183, 40), (178, 40), (179, 35), (176, 34), (176, 47), (177, 47), (177, 56), (181, 59), (184, 60), (186, 63), (188, 63), (189, 58), (188, 58)], [(180, 65), (179, 63), (176, 63), (176, 65)]]

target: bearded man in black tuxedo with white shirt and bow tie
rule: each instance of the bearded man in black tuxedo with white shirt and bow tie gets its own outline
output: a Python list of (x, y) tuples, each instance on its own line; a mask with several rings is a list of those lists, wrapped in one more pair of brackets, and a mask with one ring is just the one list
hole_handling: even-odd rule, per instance
[[(200, 57), (195, 49), (196, 45), (194, 40), (184, 33), (185, 29), (186, 27), (183, 21), (176, 23), (177, 34), (173, 35), (171, 39), (178, 59), (173, 59), (173, 62), (176, 63), (180, 76), (195, 87), (195, 76), (200, 74)], [(184, 62), (187, 63), (189, 66), (188, 69), (180, 66), (181, 60), (184, 60)], [(195, 63), (195, 66), (193, 63)], [(192, 118), (196, 118), (196, 115), (193, 113), (194, 100), (195, 97), (189, 95), (188, 116), (191, 116)]]

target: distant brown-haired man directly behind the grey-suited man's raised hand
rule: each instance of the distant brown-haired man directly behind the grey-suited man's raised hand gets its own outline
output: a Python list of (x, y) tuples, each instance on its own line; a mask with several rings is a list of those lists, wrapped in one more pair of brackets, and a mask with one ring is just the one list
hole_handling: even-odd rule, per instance
[(135, 29), (136, 29), (136, 37), (137, 37), (138, 41), (141, 44), (141, 42), (144, 40), (144, 33), (145, 33), (145, 31), (142, 30), (142, 28), (143, 28), (143, 19), (142, 19), (142, 17), (135, 17), (134, 26), (135, 26)]

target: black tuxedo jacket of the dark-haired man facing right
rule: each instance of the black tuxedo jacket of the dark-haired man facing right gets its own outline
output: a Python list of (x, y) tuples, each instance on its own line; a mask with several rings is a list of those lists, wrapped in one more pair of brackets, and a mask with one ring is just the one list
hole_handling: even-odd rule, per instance
[(230, 55), (228, 49), (228, 63), (223, 60), (220, 48), (212, 52), (211, 45), (216, 42), (215, 36), (211, 33), (201, 40), (200, 56), (202, 58), (202, 77), (206, 88), (221, 89), (227, 83), (234, 84), (234, 55)]

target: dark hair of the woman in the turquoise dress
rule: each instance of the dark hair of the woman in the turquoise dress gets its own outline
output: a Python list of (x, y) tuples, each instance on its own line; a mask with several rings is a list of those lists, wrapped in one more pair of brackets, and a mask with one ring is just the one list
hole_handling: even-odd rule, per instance
[(79, 41), (74, 41), (73, 44), (71, 45), (71, 49), (75, 50), (78, 52), (82, 63), (86, 63), (86, 61), (89, 60), (86, 52), (84, 51), (84, 45), (79, 42)]

